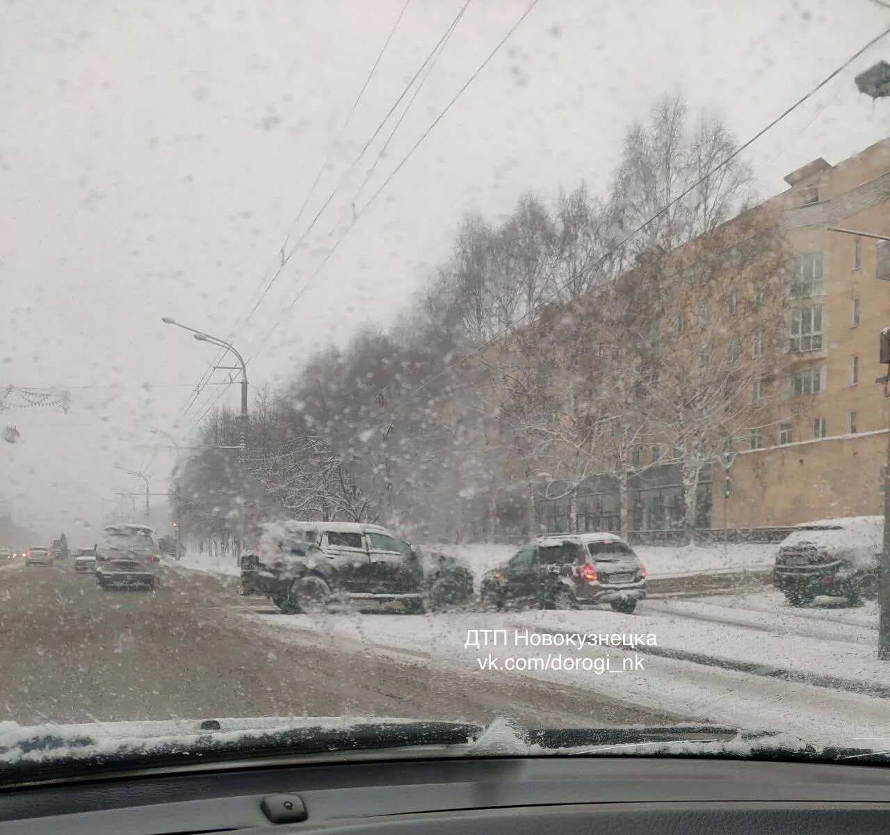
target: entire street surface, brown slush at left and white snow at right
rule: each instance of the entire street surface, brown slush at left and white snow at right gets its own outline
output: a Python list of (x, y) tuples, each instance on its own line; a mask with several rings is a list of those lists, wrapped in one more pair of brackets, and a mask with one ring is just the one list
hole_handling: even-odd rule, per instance
[[(634, 615), (287, 616), (237, 596), (233, 577), (182, 565), (166, 567), (154, 595), (102, 593), (65, 563), (16, 565), (0, 582), (0, 708), (18, 721), (332, 712), (488, 721), (509, 703), (542, 726), (700, 719), (807, 739), (813, 728), (833, 741), (890, 734), (874, 604), (819, 598), (793, 609), (766, 588), (662, 596)], [(503, 630), (497, 644), (486, 629)], [(478, 646), (467, 645), (470, 630)], [(651, 634), (654, 644), (565, 643), (588, 634)]]

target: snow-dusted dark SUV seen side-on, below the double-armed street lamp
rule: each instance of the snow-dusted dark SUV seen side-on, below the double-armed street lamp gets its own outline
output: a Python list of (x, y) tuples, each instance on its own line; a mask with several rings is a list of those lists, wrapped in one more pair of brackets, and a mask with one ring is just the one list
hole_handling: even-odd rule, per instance
[(287, 614), (389, 603), (423, 612), (423, 572), (413, 553), (380, 525), (266, 523), (240, 557), (239, 591), (269, 596)]

